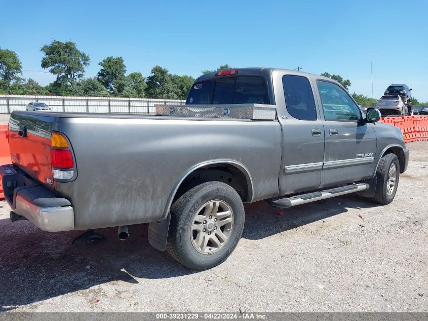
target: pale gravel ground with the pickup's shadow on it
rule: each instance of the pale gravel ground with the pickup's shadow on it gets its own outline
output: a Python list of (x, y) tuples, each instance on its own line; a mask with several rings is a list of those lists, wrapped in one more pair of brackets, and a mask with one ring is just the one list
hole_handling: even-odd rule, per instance
[(413, 142), (393, 203), (354, 195), (281, 216), (246, 205), (236, 251), (208, 271), (188, 270), (147, 241), (147, 225), (49, 233), (11, 223), (0, 202), (0, 310), (428, 311), (428, 142)]

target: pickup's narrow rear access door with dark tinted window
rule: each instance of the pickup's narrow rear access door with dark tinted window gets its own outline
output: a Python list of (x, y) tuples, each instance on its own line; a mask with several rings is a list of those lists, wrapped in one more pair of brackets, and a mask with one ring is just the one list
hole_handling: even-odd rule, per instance
[(276, 103), (282, 127), (280, 195), (316, 190), (321, 183), (324, 128), (314, 89), (301, 74), (274, 70)]

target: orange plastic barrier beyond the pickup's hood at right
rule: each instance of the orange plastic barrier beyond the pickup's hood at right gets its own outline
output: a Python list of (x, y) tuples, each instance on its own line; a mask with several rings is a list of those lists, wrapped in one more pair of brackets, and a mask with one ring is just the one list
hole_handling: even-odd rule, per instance
[(428, 140), (428, 116), (384, 117), (380, 122), (400, 128), (406, 142)]

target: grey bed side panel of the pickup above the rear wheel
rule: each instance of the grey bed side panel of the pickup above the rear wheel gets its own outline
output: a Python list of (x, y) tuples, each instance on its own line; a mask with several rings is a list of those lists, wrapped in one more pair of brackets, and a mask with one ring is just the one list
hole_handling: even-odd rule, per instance
[(276, 121), (60, 118), (55, 125), (76, 160), (76, 180), (55, 183), (72, 203), (75, 229), (158, 221), (184, 173), (215, 159), (248, 168), (253, 201), (278, 193)]

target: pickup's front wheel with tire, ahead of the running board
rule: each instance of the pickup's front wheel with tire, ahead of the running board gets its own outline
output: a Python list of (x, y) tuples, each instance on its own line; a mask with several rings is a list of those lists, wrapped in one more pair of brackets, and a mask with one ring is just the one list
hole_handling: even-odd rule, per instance
[[(391, 176), (390, 172), (392, 173)], [(394, 174), (395, 177), (393, 177)], [(372, 200), (382, 205), (391, 203), (397, 193), (398, 182), (400, 180), (400, 162), (398, 161), (398, 157), (395, 154), (383, 156), (377, 167), (376, 176), (376, 192)], [(394, 182), (392, 179), (395, 179)], [(393, 183), (394, 185), (391, 187)]]

